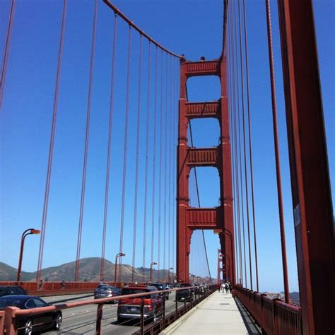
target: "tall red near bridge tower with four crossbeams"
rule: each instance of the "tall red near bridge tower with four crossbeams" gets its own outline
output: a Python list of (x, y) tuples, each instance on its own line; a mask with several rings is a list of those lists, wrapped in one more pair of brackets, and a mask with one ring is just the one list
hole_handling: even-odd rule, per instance
[[(178, 281), (189, 281), (189, 252), (193, 230), (213, 229), (219, 233), (224, 261), (231, 260), (230, 237), (224, 229), (233, 232), (233, 192), (230, 158), (230, 137), (228, 121), (228, 101), (226, 93), (225, 59), (213, 61), (186, 61), (182, 59), (180, 66), (180, 110), (179, 136), (177, 154), (177, 278)], [(221, 99), (218, 102), (188, 102), (187, 78), (192, 76), (219, 76), (221, 78)], [(187, 125), (192, 117), (201, 117), (202, 111), (208, 111), (216, 117), (221, 125), (221, 144), (213, 148), (189, 148), (187, 145)], [(221, 178), (221, 206), (217, 208), (189, 207), (188, 178), (192, 167), (215, 166)], [(223, 169), (224, 167), (224, 169)], [(233, 240), (233, 236), (232, 236)], [(235, 269), (231, 266), (230, 281), (235, 283)]]

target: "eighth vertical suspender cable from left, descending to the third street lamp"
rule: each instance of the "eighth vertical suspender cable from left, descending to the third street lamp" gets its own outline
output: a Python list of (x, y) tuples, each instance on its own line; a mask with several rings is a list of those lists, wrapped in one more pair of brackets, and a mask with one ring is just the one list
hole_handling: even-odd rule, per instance
[(153, 244), (155, 240), (155, 168), (156, 168), (156, 137), (157, 137), (157, 67), (158, 48), (155, 48), (155, 110), (153, 112), (153, 204), (151, 208), (151, 263), (153, 263)]

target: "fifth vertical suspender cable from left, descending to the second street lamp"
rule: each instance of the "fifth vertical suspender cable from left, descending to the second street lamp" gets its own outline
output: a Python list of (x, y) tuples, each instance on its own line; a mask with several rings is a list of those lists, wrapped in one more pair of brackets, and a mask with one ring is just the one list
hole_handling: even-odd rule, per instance
[[(119, 252), (123, 251), (123, 232), (124, 232), (124, 206), (127, 186), (127, 149), (128, 149), (128, 126), (129, 126), (129, 93), (130, 93), (130, 73), (131, 73), (131, 25), (129, 25), (128, 33), (128, 55), (127, 55), (127, 88), (126, 88), (126, 112), (124, 122), (124, 156), (123, 156), (123, 173), (122, 173), (122, 204), (121, 204), (121, 225), (120, 225), (120, 242)], [(119, 258), (119, 276), (118, 281), (121, 281), (122, 258)]]

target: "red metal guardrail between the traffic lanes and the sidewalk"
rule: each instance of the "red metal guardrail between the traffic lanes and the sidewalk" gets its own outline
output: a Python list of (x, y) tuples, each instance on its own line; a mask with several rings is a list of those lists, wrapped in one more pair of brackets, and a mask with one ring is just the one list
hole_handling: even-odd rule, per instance
[[(178, 290), (198, 290), (199, 294), (197, 294), (196, 301), (191, 301), (192, 303), (188, 304), (186, 303), (186, 300), (184, 302), (184, 307), (178, 309), (177, 301), (176, 301), (176, 311), (173, 313), (173, 315), (168, 315), (165, 317), (165, 299), (163, 299), (164, 305), (163, 305), (163, 325), (165, 327), (167, 324), (172, 323), (177, 317), (180, 317), (184, 314), (184, 312), (187, 312), (187, 310), (191, 309), (195, 303), (199, 303), (201, 300), (205, 298), (205, 296), (208, 296), (213, 290), (216, 289), (216, 286), (204, 286), (204, 290), (199, 290), (199, 286), (190, 286), (186, 288), (173, 288), (170, 290), (157, 290), (150, 292), (150, 294), (161, 294), (161, 293), (170, 293), (170, 292), (176, 292)], [(127, 299), (127, 298), (142, 298), (142, 304), (141, 304), (141, 319), (140, 319), (140, 333), (139, 334), (146, 334), (145, 333), (145, 324), (144, 324), (144, 318), (143, 318), (143, 304), (144, 304), (144, 297), (148, 295), (148, 292), (146, 293), (137, 293), (137, 294), (131, 294), (131, 295), (119, 295), (116, 297), (111, 298), (101, 298), (101, 299), (91, 299), (91, 300), (84, 300), (84, 301), (78, 301), (78, 302), (69, 302), (66, 304), (60, 304), (60, 305), (52, 305), (48, 307), (37, 307), (37, 308), (31, 308), (28, 310), (21, 310), (18, 307), (4, 307), (3, 311), (0, 314), (0, 335), (4, 334), (3, 329), (6, 331), (6, 335), (14, 335), (17, 334), (18, 331), (18, 318), (23, 316), (30, 316), (30, 315), (39, 315), (45, 312), (51, 312), (55, 310), (66, 310), (69, 308), (74, 307), (80, 307), (80, 306), (86, 306), (86, 305), (98, 305), (97, 306), (97, 312), (96, 312), (96, 322), (95, 322), (95, 334), (101, 334), (101, 321), (102, 321), (102, 307), (107, 302), (112, 302), (114, 300), (121, 300), (121, 299)], [(176, 299), (177, 300), (177, 299)], [(4, 315), (2, 319), (4, 319), (4, 327), (1, 327), (1, 315)], [(173, 321), (172, 321), (173, 320)], [(151, 333), (152, 334), (152, 333)]]

